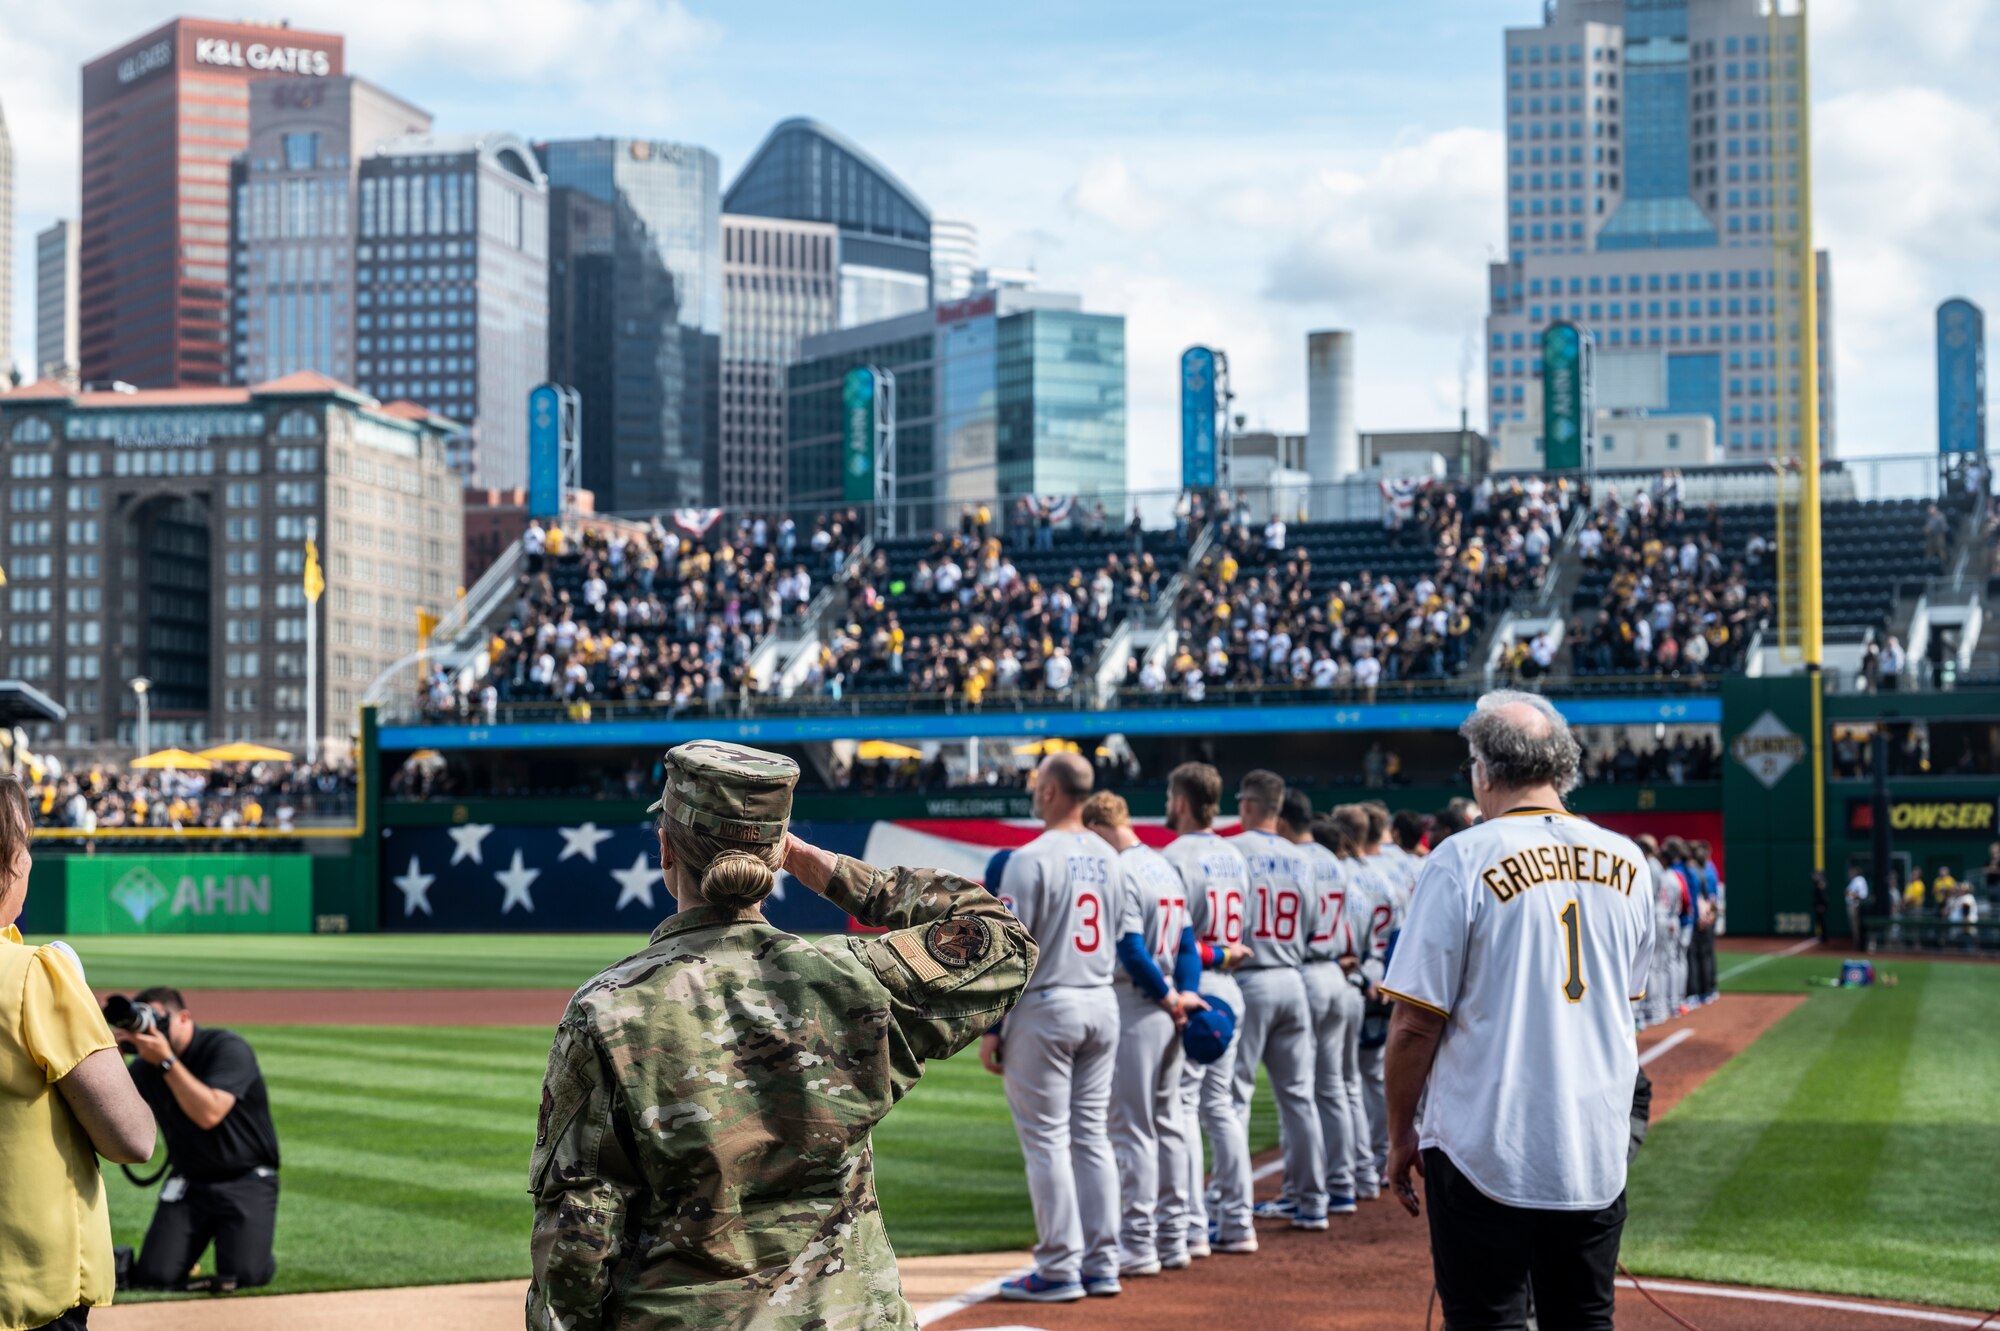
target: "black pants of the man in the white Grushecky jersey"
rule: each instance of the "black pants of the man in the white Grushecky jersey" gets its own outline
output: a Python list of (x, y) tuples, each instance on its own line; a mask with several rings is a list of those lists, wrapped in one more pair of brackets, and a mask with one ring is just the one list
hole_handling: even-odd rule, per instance
[(1530, 1285), (1540, 1325), (1612, 1331), (1624, 1195), (1602, 1211), (1508, 1207), (1432, 1147), (1424, 1151), (1424, 1201), (1448, 1331), (1520, 1331)]

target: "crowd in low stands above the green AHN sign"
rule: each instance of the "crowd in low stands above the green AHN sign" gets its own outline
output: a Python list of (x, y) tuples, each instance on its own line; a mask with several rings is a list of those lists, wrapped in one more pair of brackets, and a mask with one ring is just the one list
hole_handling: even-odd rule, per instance
[(248, 763), (212, 771), (112, 771), (46, 775), (28, 787), (36, 825), (72, 831), (116, 827), (292, 827), (354, 815), (352, 763)]

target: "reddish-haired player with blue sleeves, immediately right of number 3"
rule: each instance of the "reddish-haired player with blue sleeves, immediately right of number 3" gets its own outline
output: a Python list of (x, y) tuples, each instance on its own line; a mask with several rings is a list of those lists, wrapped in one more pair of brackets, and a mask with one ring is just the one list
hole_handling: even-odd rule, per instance
[(1118, 851), (1124, 913), (1118, 921), (1118, 1061), (1112, 1073), (1112, 1155), (1124, 1199), (1118, 1273), (1158, 1275), (1188, 1265), (1186, 1201), (1162, 1197), (1162, 1179), (1186, 1179), (1188, 1131), (1180, 1113), (1180, 1027), (1202, 1011), (1202, 957), (1188, 925), (1188, 889), (1160, 851), (1132, 831), (1132, 809), (1100, 789), (1084, 801), (1084, 827)]

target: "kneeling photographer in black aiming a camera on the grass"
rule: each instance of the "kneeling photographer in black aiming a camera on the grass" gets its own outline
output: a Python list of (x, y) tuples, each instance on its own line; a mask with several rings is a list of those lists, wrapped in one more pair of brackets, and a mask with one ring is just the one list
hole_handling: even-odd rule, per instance
[[(166, 1135), (166, 1185), (132, 1267), (140, 1289), (182, 1289), (210, 1241), (216, 1287), (268, 1285), (278, 1269), (278, 1129), (250, 1041), (196, 1027), (178, 989), (146, 989), (106, 1017), (138, 1057), (132, 1081)], [(148, 1021), (150, 1017), (150, 1021)]]

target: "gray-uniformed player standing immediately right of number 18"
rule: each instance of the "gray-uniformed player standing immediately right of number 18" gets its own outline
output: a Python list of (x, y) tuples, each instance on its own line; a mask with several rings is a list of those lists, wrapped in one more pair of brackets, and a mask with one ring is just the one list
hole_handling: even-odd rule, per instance
[[(1360, 1039), (1362, 995), (1340, 965), (1340, 955), (1352, 951), (1348, 941), (1348, 865), (1316, 837), (1314, 827), (1312, 801), (1306, 799), (1304, 791), (1284, 791), (1278, 831), (1302, 847), (1312, 861), (1312, 917), (1316, 925), (1312, 937), (1306, 939), (1306, 965), (1300, 975), (1306, 981), (1306, 1001), (1312, 1005), (1312, 1103), (1320, 1111), (1320, 1141), (1326, 1151), (1326, 1213), (1354, 1215), (1358, 1123), (1348, 1117), (1348, 1071), (1354, 1069), (1354, 1045)], [(1334, 823), (1322, 819), (1318, 827), (1324, 827), (1338, 845), (1340, 829)], [(1348, 1003), (1350, 995), (1352, 1005)]]

